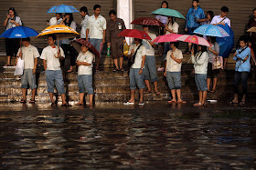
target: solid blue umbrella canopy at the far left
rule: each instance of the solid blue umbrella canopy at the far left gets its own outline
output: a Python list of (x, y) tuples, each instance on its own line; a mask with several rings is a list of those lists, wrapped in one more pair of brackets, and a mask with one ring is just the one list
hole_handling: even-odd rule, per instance
[(27, 38), (37, 36), (38, 33), (32, 28), (26, 26), (16, 26), (6, 30), (0, 37), (5, 38)]

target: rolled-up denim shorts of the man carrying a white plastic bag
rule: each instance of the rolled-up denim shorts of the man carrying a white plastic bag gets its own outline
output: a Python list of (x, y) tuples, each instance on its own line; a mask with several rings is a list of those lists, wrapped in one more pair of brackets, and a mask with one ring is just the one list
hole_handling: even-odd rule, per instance
[(27, 88), (28, 85), (30, 89), (37, 88), (36, 74), (33, 75), (33, 69), (25, 69), (23, 71), (23, 75), (21, 75), (20, 78), (21, 78), (21, 88)]

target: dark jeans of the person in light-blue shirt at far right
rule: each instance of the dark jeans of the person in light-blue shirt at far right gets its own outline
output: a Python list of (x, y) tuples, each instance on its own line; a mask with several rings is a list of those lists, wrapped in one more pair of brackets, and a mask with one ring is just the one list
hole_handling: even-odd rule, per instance
[(247, 80), (249, 72), (235, 72), (234, 76), (234, 94), (239, 94), (239, 83), (241, 80), (242, 95), (247, 95)]

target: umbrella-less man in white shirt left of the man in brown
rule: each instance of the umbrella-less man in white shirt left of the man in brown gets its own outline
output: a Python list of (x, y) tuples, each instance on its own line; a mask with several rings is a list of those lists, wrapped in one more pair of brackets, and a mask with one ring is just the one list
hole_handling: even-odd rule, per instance
[[(101, 43), (105, 44), (106, 35), (106, 19), (101, 16), (101, 5), (93, 6), (94, 15), (91, 15), (88, 20), (87, 30), (86, 30), (86, 40), (89, 40), (98, 52), (100, 52)], [(101, 55), (101, 54), (100, 54)], [(96, 71), (99, 71), (101, 59), (96, 57)]]

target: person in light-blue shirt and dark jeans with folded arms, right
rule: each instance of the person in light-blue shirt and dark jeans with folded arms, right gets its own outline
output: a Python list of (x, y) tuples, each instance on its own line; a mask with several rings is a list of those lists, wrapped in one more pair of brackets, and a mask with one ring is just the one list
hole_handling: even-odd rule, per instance
[(248, 47), (248, 39), (245, 35), (240, 36), (240, 48), (234, 54), (233, 60), (236, 61), (234, 77), (234, 99), (231, 104), (239, 103), (239, 83), (242, 85), (242, 99), (240, 105), (245, 105), (247, 95), (247, 80), (251, 71), (251, 48)]

